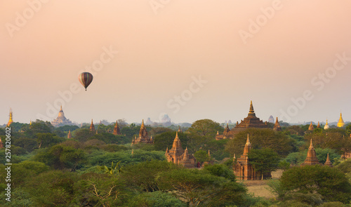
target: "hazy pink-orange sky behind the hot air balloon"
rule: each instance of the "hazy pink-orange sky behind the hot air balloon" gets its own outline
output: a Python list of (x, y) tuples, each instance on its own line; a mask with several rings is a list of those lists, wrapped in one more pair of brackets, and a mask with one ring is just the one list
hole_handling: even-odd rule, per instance
[(14, 121), (55, 119), (48, 105), (101, 55), (88, 91), (62, 104), (72, 121), (240, 121), (250, 100), (260, 119), (285, 119), (305, 91), (284, 121), (351, 120), (351, 60), (336, 56), (351, 58), (351, 1), (46, 1), (0, 2), (0, 124), (10, 107)]

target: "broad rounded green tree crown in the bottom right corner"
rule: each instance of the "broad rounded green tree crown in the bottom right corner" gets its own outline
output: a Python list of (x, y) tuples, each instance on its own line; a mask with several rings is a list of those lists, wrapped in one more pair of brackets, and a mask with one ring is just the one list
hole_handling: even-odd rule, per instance
[(283, 173), (281, 182), (286, 189), (294, 192), (317, 192), (324, 201), (349, 203), (351, 200), (350, 182), (338, 168), (319, 165), (294, 167)]

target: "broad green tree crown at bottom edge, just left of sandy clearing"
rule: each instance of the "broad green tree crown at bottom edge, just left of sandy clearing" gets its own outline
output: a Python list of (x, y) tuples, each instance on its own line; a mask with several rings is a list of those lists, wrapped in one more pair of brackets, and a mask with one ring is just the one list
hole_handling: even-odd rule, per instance
[(209, 171), (179, 168), (160, 173), (159, 187), (190, 206), (230, 206), (244, 203), (246, 188)]

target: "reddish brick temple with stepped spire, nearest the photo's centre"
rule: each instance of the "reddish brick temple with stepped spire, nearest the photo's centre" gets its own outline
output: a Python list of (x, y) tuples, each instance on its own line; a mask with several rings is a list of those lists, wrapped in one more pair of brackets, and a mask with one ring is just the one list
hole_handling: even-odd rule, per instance
[(166, 149), (167, 161), (173, 162), (179, 165), (184, 166), (185, 168), (194, 168), (195, 167), (195, 157), (192, 154), (189, 154), (187, 151), (187, 147), (185, 150), (180, 143), (180, 139), (178, 138), (178, 132), (176, 132), (176, 138), (173, 140), (172, 149)]

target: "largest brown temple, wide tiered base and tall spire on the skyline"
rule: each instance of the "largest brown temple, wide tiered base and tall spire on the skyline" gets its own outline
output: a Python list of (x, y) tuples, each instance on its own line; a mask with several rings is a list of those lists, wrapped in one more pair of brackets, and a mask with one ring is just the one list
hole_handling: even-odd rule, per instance
[(244, 131), (247, 128), (270, 128), (267, 126), (267, 122), (263, 123), (260, 118), (256, 117), (255, 111), (253, 110), (252, 100), (250, 103), (248, 116), (244, 118), (244, 120), (241, 120), (240, 123), (237, 121), (237, 125), (227, 134), (223, 133), (222, 136), (219, 134), (216, 135), (216, 140), (223, 140), (227, 138), (232, 139), (237, 133)]

